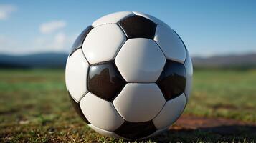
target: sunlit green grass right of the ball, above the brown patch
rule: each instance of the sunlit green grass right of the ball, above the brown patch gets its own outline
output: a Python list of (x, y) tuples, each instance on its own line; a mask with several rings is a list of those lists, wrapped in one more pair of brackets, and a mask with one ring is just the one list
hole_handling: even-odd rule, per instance
[(256, 70), (197, 70), (186, 114), (256, 122)]

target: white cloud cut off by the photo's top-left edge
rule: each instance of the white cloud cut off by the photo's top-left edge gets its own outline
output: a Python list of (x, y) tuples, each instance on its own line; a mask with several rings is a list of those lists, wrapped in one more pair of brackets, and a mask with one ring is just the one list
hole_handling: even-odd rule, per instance
[(16, 6), (11, 4), (0, 4), (0, 20), (8, 19), (10, 14), (16, 10)]

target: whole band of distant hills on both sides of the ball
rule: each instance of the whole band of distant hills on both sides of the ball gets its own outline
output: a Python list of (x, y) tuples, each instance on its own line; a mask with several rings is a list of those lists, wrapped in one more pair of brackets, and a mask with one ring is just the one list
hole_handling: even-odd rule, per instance
[[(0, 68), (65, 68), (68, 54), (42, 53), (14, 56), (0, 54)], [(193, 57), (194, 67), (256, 67), (256, 54)]]

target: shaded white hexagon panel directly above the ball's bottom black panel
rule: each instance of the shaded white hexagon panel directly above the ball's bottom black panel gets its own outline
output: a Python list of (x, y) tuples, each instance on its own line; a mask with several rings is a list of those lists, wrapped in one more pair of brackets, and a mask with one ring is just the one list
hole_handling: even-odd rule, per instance
[(161, 90), (155, 83), (128, 83), (113, 104), (126, 121), (146, 122), (156, 117), (165, 102)]

